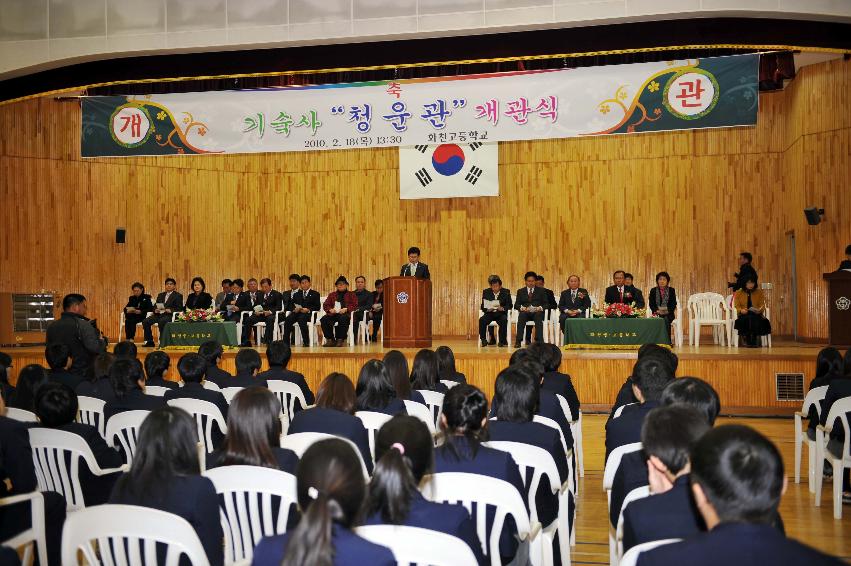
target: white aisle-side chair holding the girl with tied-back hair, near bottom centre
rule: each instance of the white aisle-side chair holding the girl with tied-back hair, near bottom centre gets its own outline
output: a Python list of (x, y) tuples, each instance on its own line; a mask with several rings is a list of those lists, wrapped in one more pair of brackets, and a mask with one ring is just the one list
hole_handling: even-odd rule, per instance
[[(423, 496), (429, 501), (461, 503), (476, 523), (482, 550), (492, 566), (500, 565), (499, 536), (505, 518), (511, 515), (521, 542), (529, 541), (529, 557), (535, 566), (543, 566), (543, 544), (540, 523), (532, 523), (523, 496), (510, 483), (479, 474), (440, 472), (423, 478)], [(475, 503), (475, 513), (473, 504)], [(493, 528), (487, 536), (487, 507), (496, 509)], [(569, 556), (569, 555), (568, 555)]]

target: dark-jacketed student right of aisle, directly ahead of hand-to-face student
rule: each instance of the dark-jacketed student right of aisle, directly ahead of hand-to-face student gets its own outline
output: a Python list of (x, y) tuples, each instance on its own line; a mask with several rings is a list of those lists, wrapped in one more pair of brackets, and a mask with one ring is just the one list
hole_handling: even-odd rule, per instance
[(606, 458), (612, 450), (641, 440), (641, 424), (651, 409), (659, 406), (662, 390), (674, 379), (671, 366), (656, 356), (636, 362), (632, 370), (632, 390), (638, 403), (623, 408), (620, 417), (606, 423)]

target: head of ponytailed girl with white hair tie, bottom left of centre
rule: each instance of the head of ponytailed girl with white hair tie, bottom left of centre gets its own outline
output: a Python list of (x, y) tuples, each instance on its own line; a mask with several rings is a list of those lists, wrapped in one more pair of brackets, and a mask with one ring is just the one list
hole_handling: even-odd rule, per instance
[(361, 463), (348, 443), (321, 440), (308, 448), (296, 469), (301, 520), (287, 542), (283, 564), (332, 566), (334, 523), (350, 528), (366, 495)]

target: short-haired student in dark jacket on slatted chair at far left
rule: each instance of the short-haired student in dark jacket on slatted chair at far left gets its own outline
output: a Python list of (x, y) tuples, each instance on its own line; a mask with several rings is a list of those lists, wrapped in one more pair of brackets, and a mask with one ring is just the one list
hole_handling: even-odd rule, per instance
[[(82, 438), (92, 451), (98, 466), (102, 469), (117, 468), (123, 463), (121, 453), (107, 446), (98, 430), (87, 424), (74, 422), (77, 418), (77, 395), (61, 383), (48, 383), (38, 393), (35, 414), (45, 428), (52, 428), (76, 434)], [(81, 463), (80, 485), (86, 506), (100, 505), (109, 499), (118, 473), (105, 476), (92, 474), (85, 462)]]

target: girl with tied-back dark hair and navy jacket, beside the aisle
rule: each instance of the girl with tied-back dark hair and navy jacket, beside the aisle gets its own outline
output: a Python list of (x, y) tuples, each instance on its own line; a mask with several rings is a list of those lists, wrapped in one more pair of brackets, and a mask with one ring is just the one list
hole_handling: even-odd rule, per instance
[[(440, 430), (443, 443), (434, 452), (434, 471), (480, 474), (506, 481), (521, 497), (526, 493), (517, 463), (511, 454), (482, 446), (488, 439), (488, 401), (485, 394), (468, 384), (456, 385), (443, 398)], [(528, 511), (528, 501), (526, 502)], [(488, 514), (488, 522), (493, 515)], [(499, 537), (502, 563), (508, 563), (517, 553), (517, 525), (506, 518)], [(490, 557), (488, 557), (490, 558)]]

